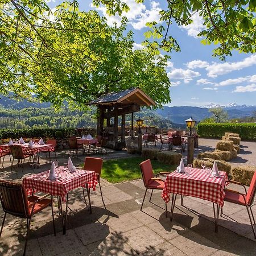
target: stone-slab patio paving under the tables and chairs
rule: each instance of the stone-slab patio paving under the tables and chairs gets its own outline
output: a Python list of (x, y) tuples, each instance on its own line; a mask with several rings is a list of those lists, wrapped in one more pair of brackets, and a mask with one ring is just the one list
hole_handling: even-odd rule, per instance
[[(200, 139), (201, 150), (213, 150), (216, 140)], [(242, 142), (243, 150), (238, 161), (232, 164), (255, 166), (256, 143)], [(125, 151), (110, 152), (103, 158), (133, 157)], [(184, 155), (185, 157), (185, 155)], [(67, 152), (57, 152), (60, 164), (67, 164)], [(84, 156), (72, 157), (78, 166)], [(0, 171), (0, 179), (21, 179), (24, 175), (48, 170), (46, 159), (40, 160), (39, 169), (28, 164), (24, 173), (20, 168), (10, 171), (9, 162)], [(138, 167), (139, 168), (139, 167)], [(212, 203), (192, 197), (184, 198), (184, 207), (177, 199), (174, 220), (166, 218), (161, 192), (155, 191), (154, 204), (149, 203), (148, 193), (139, 210), (144, 195), (142, 180), (110, 184), (101, 181), (105, 209), (100, 189), (92, 192), (92, 214), (88, 212), (81, 188), (69, 193), (67, 234), (63, 235), (61, 217), (55, 202), (55, 225), (53, 236), (51, 209), (44, 209), (32, 218), (27, 255), (256, 255), (256, 242), (244, 207), (225, 203), (224, 217), (220, 218), (218, 233), (214, 233)], [(170, 204), (168, 204), (170, 210)], [(256, 205), (253, 206), (256, 212)], [(3, 211), (0, 208), (0, 222)], [(26, 221), (7, 215), (2, 237), (1, 255), (22, 255)]]

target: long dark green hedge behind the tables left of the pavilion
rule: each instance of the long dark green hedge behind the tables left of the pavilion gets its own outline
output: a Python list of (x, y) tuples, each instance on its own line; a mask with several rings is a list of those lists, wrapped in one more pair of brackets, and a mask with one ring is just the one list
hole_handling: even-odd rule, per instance
[[(56, 133), (57, 131), (57, 133)], [(60, 131), (60, 132), (58, 132)], [(63, 138), (69, 138), (72, 135), (81, 136), (82, 134), (96, 135), (96, 129), (80, 129), (80, 128), (62, 128), (62, 129), (0, 129), (0, 139), (18, 139), (23, 138), (57, 138), (63, 135)]]

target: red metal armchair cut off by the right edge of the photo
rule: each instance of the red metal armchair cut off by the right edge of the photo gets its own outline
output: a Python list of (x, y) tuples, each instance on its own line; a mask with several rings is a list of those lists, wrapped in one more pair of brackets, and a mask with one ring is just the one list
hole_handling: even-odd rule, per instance
[[(245, 189), (245, 193), (240, 193), (238, 191), (234, 191), (231, 189), (226, 188), (225, 189), (225, 198), (224, 201), (228, 201), (230, 203), (234, 204), (240, 204), (244, 205), (247, 209), (247, 213), (249, 215), (249, 219), (251, 222), (251, 228), (253, 229), (253, 234), (256, 239), (256, 233), (253, 224), (255, 225), (255, 218), (253, 216), (253, 210), (251, 210), (251, 205), (254, 203), (254, 197), (256, 193), (256, 171), (254, 172), (253, 179), (251, 179), (251, 184), (248, 189), (248, 192), (246, 191), (246, 187), (241, 184), (240, 182), (229, 180), (229, 183), (234, 183), (237, 185), (241, 185)], [(250, 210), (249, 210), (250, 209)], [(221, 215), (222, 215), (222, 209), (221, 209)]]

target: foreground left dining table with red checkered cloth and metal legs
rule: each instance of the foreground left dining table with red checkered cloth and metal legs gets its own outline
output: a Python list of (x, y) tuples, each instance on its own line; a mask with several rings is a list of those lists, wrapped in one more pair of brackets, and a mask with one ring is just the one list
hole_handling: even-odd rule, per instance
[[(33, 192), (50, 193), (52, 196), (58, 198), (58, 208), (62, 217), (63, 234), (66, 233), (67, 224), (67, 209), (68, 209), (68, 193), (78, 187), (86, 187), (89, 200), (89, 209), (91, 210), (89, 188), (96, 188), (98, 183), (97, 176), (94, 171), (76, 170), (76, 172), (69, 172), (64, 166), (56, 168), (56, 179), (48, 180), (49, 170), (24, 177), (23, 184), (27, 190), (28, 195)], [(62, 201), (66, 202), (65, 214), (62, 208)]]

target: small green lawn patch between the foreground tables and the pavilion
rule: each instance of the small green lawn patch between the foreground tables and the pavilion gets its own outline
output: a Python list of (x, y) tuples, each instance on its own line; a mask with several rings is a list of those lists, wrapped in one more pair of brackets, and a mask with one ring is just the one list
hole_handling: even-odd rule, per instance
[[(101, 177), (108, 180), (110, 183), (141, 179), (139, 163), (143, 160), (145, 159), (141, 156), (105, 160)], [(174, 171), (176, 168), (176, 166), (160, 163), (157, 160), (151, 160), (151, 163), (155, 174), (160, 171)]]

